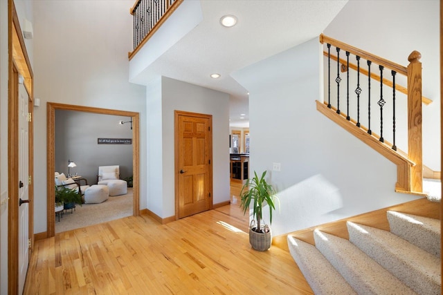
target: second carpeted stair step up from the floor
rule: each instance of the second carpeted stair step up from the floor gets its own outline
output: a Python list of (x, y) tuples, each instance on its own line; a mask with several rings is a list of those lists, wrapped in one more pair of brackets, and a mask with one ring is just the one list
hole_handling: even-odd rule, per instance
[(316, 247), (358, 294), (416, 294), (349, 240), (314, 231)]

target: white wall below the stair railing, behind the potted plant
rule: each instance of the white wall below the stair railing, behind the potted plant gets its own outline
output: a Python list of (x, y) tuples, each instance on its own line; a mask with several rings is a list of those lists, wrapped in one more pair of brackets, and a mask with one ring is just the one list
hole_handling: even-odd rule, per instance
[(415, 199), (394, 192), (395, 164), (316, 111), (320, 62), (314, 38), (233, 75), (250, 93), (251, 173), (269, 171), (280, 197), (274, 235)]

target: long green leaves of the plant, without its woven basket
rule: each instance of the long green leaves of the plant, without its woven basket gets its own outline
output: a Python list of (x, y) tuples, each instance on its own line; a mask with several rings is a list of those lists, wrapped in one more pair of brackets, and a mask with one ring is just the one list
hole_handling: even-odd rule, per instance
[(269, 206), (269, 223), (272, 223), (272, 211), (275, 210), (275, 201), (278, 201), (275, 196), (275, 189), (271, 184), (268, 184), (264, 179), (266, 171), (262, 173), (262, 176), (258, 178), (257, 173), (254, 171), (254, 177), (246, 180), (246, 183), (242, 187), (240, 192), (240, 208), (243, 213), (249, 211), (251, 204), (253, 204), (253, 218), (257, 220), (257, 228), (255, 231), (264, 232), (261, 228), (262, 210), (263, 207), (268, 204)]

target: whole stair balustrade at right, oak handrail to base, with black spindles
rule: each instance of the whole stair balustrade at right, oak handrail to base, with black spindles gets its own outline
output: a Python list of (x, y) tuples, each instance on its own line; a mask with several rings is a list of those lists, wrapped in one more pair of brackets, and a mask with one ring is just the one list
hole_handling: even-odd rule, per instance
[[(318, 110), (397, 164), (396, 191), (422, 193), (422, 102), (431, 100), (422, 97), (420, 53), (413, 51), (406, 67), (325, 35), (320, 43), (327, 65)], [(397, 132), (407, 153), (397, 149)]]

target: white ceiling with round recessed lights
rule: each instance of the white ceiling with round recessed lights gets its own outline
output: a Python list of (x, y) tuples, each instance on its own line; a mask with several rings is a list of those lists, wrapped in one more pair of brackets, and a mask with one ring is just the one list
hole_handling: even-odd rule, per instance
[[(193, 0), (185, 0), (193, 1)], [(230, 74), (318, 37), (347, 0), (202, 0), (203, 20), (144, 71), (230, 94), (230, 125), (248, 125), (248, 94)], [(219, 19), (235, 15), (225, 28)], [(212, 73), (221, 77), (213, 79)], [(240, 114), (246, 114), (240, 120)]]

